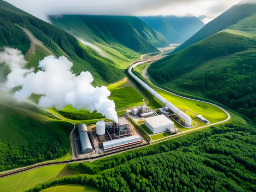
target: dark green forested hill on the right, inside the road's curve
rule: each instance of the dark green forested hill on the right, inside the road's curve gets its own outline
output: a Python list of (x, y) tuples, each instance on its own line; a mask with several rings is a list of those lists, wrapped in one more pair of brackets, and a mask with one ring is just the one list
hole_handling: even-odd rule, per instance
[(256, 34), (224, 30), (148, 68), (167, 88), (214, 99), (256, 122)]

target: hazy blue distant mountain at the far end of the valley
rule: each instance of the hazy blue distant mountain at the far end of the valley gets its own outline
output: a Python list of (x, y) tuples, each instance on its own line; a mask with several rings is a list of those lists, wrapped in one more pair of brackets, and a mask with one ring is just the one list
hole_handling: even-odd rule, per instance
[(186, 41), (205, 25), (200, 19), (194, 16), (149, 16), (139, 18), (162, 33), (170, 44)]

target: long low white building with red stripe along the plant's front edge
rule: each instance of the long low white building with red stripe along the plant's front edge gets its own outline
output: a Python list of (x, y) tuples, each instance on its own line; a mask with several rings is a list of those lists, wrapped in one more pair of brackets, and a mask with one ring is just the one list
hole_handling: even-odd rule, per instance
[(141, 143), (141, 138), (138, 135), (132, 135), (129, 137), (122, 137), (119, 139), (114, 139), (110, 141), (106, 141), (103, 143), (103, 150), (110, 151), (114, 149), (118, 149), (121, 147), (126, 147), (134, 144)]

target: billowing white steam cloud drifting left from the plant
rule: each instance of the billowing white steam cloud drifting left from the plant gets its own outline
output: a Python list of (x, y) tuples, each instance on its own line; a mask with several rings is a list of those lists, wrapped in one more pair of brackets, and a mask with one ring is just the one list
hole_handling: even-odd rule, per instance
[(42, 94), (38, 105), (43, 108), (56, 106), (58, 110), (71, 104), (76, 109), (96, 110), (106, 118), (117, 122), (114, 101), (108, 99), (110, 91), (105, 86), (93, 87), (93, 76), (90, 72), (81, 72), (79, 76), (73, 74), (70, 69), (73, 63), (66, 57), (47, 56), (39, 61), (38, 72), (34, 68), (24, 69), (26, 60), (22, 52), (5, 48), (0, 52), (0, 63), (9, 66), (11, 72), (5, 83), (0, 84), (4, 91), (22, 86), (13, 97), (21, 102), (31, 94)]

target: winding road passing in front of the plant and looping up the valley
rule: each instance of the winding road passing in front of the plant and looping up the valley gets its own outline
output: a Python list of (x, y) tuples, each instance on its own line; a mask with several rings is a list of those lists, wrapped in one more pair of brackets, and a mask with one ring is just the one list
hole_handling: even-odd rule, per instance
[[(160, 50), (160, 49), (159, 49), (159, 50)], [(163, 54), (163, 51), (162, 51), (162, 50), (160, 50), (160, 51), (161, 51), (161, 53), (158, 54), (158, 55), (156, 55), (156, 56), (154, 56), (154, 57), (157, 57), (157, 56), (159, 56), (159, 55), (162, 55), (162, 54)], [(134, 69), (136, 66), (138, 66), (138, 65), (140, 65), (140, 64), (142, 64), (142, 63), (144, 63), (144, 62), (149, 61), (149, 60), (143, 61), (143, 56), (144, 56), (144, 55), (141, 56), (141, 62), (137, 62), (137, 63), (135, 63), (135, 64), (133, 64), (133, 63), (134, 63), (134, 62), (133, 62), (133, 63), (130, 65), (129, 69)], [(151, 57), (150, 59), (152, 59), (152, 58), (153, 58), (153, 57)], [(145, 73), (145, 74), (146, 74), (146, 73)], [(143, 77), (144, 77), (144, 76), (143, 76)], [(154, 84), (153, 84), (153, 85), (154, 85)], [(154, 85), (154, 86), (155, 86), (155, 85)], [(157, 87), (157, 86), (155, 86), (155, 87)], [(157, 87), (157, 88), (159, 88), (159, 87)], [(159, 88), (159, 89), (162, 89), (162, 88)], [(162, 89), (162, 90), (164, 90), (164, 89)], [(181, 98), (190, 99), (190, 98), (187, 98), (187, 97), (183, 97), (183, 96), (177, 95), (177, 94), (172, 93), (172, 92), (167, 91), (167, 90), (164, 90), (164, 91), (166, 91), (166, 92), (168, 92), (168, 93), (171, 93), (171, 94), (174, 94), (174, 95), (176, 95), (176, 96), (178, 96), (178, 97), (181, 97)], [(220, 122), (217, 122), (217, 123), (213, 123), (213, 124), (210, 124), (210, 125), (205, 125), (205, 126), (197, 127), (197, 128), (195, 128), (195, 129), (188, 130), (188, 131), (183, 131), (183, 132), (182, 132), (182, 135), (184, 135), (183, 133), (189, 133), (190, 131), (194, 131), (194, 130), (197, 130), (197, 129), (202, 129), (202, 128), (204, 128), (204, 127), (216, 125), (216, 124), (219, 124), (219, 123), (224, 123), (224, 122), (230, 120), (230, 118), (231, 118), (231, 117), (230, 117), (230, 114), (229, 114), (226, 110), (222, 109), (220, 106), (218, 106), (218, 105), (216, 105), (216, 104), (213, 104), (213, 103), (210, 103), (210, 102), (205, 102), (205, 101), (200, 101), (200, 100), (196, 100), (196, 99), (190, 99), (190, 100), (195, 100), (195, 101), (199, 101), (199, 102), (203, 102), (203, 103), (212, 104), (212, 105), (214, 105), (214, 106), (220, 108), (222, 111), (224, 111), (224, 112), (228, 115), (228, 118), (227, 118), (226, 120), (223, 120), (223, 121), (220, 121)], [(47, 111), (47, 110), (46, 110), (46, 111)], [(50, 111), (47, 111), (47, 112), (48, 112), (48, 113), (51, 113), (52, 115), (54, 115), (56, 118), (58, 118), (58, 119), (60, 119), (60, 120), (66, 121), (66, 120), (62, 119), (61, 117), (59, 117), (58, 115), (56, 115), (56, 114), (54, 114), (54, 113), (52, 113), (52, 112), (50, 112)], [(68, 121), (68, 122), (70, 122), (70, 121)], [(72, 122), (70, 122), (70, 123), (72, 123)], [(41, 162), (41, 163), (37, 163), (37, 164), (34, 164), (34, 165), (26, 166), (26, 167), (20, 167), (20, 168), (17, 168), (17, 169), (7, 170), (7, 171), (4, 171), (4, 172), (1, 172), (1, 173), (0, 173), (0, 178), (6, 177), (6, 176), (10, 176), (10, 175), (15, 175), (15, 174), (22, 173), (22, 172), (26, 172), (26, 171), (29, 171), (29, 170), (32, 170), (32, 169), (35, 169), (35, 168), (38, 168), (38, 167), (43, 167), (43, 166), (60, 165), (60, 164), (69, 164), (69, 163), (74, 163), (74, 162), (95, 161), (95, 160), (98, 160), (98, 159), (101, 159), (101, 158), (105, 158), (105, 157), (108, 157), (108, 156), (120, 154), (120, 153), (127, 152), (127, 151), (131, 151), (131, 150), (134, 150), (134, 149), (135, 149), (135, 148), (132, 148), (132, 149), (129, 149), (129, 150), (124, 150), (124, 151), (118, 152), (118, 153), (113, 153), (113, 154), (108, 154), (108, 155), (106, 154), (106, 155), (104, 155), (104, 156), (97, 157), (97, 158), (93, 158), (93, 159), (92, 159), (92, 158), (91, 158), (91, 159), (88, 158), (88, 159), (85, 159), (85, 160), (83, 160), (83, 159), (79, 160), (79, 159), (76, 158), (76, 155), (75, 155), (75, 148), (74, 148), (74, 142), (73, 142), (73, 132), (74, 132), (76, 126), (75, 126), (74, 123), (72, 123), (72, 124), (73, 124), (74, 127), (73, 127), (73, 129), (72, 129), (72, 131), (71, 131), (71, 133), (70, 133), (70, 142), (71, 142), (71, 148), (72, 148), (72, 158), (71, 158), (70, 160), (67, 160), (67, 161), (59, 161), (59, 162)], [(143, 129), (143, 127), (142, 127), (142, 129)], [(143, 130), (144, 130), (144, 129), (143, 129)], [(146, 133), (146, 132), (145, 132), (145, 133)], [(146, 134), (147, 134), (147, 133), (146, 133)], [(161, 138), (161, 139), (157, 139), (157, 140), (154, 140), (154, 141), (152, 141), (152, 139), (151, 139), (150, 144), (152, 144), (152, 142), (154, 142), (154, 144), (159, 143), (159, 142), (162, 142), (162, 141), (160, 141), (160, 140), (168, 139), (168, 138), (170, 138), (170, 137), (173, 137), (173, 138), (179, 137), (179, 136), (177, 136), (178, 134), (181, 134), (181, 133), (177, 133), (177, 134), (175, 134), (175, 135), (170, 135), (170, 136), (167, 136), (167, 137), (164, 137), (164, 138)], [(147, 135), (148, 135), (148, 134), (147, 134)], [(182, 135), (180, 135), (180, 136), (182, 136)], [(148, 136), (150, 136), (150, 135), (148, 135)], [(174, 137), (174, 136), (175, 136), (175, 137)], [(151, 137), (150, 137), (150, 138), (151, 138)], [(171, 138), (170, 138), (170, 139), (171, 139)], [(157, 141), (159, 141), (159, 142), (157, 142)], [(142, 148), (142, 147), (145, 147), (145, 146), (138, 146), (138, 147), (136, 147), (136, 149)]]

